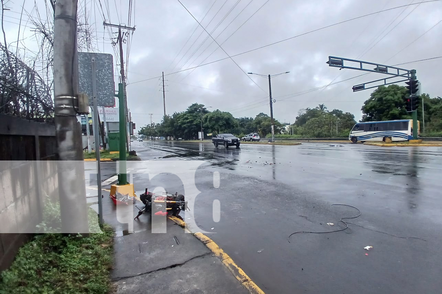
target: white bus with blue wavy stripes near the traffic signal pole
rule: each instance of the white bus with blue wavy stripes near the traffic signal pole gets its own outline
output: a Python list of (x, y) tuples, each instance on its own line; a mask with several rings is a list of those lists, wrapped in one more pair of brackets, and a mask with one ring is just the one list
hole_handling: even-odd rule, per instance
[[(419, 121), (418, 134), (420, 134)], [(348, 139), (353, 143), (357, 141), (408, 141), (413, 139), (413, 120), (398, 119), (381, 122), (357, 123), (351, 129)]]

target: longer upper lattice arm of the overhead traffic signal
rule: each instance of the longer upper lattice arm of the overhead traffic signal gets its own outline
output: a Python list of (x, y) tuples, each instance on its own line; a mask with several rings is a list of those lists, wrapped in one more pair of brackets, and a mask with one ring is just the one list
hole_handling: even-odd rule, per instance
[[(350, 63), (350, 65), (344, 65), (344, 61), (347, 63)], [(411, 77), (411, 71), (400, 68), (400, 67), (391, 67), (384, 64), (378, 64), (378, 63), (372, 63), (372, 62), (366, 62), (361, 60), (354, 60), (354, 59), (348, 59), (348, 58), (342, 58), (342, 57), (335, 57), (335, 56), (328, 56), (328, 61), (326, 62), (328, 66), (330, 67), (339, 67), (339, 68), (350, 68), (350, 69), (356, 69), (359, 71), (371, 71), (371, 72), (378, 72), (381, 74), (391, 74), (394, 76), (402, 76), (402, 77)], [(359, 63), (359, 65), (354, 65), (354, 63)], [(373, 67), (373, 69), (369, 69), (366, 67)]]

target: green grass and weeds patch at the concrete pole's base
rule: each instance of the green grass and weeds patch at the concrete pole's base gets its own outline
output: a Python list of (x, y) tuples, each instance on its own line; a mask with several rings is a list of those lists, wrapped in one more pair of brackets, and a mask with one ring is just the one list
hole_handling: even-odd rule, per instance
[[(89, 216), (96, 223), (97, 214)], [(102, 231), (84, 238), (38, 234), (1, 272), (0, 294), (109, 293), (114, 231), (107, 225)]]

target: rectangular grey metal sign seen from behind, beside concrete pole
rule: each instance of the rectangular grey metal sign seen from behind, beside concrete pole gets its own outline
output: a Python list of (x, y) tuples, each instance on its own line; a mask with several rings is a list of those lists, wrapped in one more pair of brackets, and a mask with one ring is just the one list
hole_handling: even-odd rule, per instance
[(114, 62), (111, 54), (78, 52), (80, 93), (89, 96), (92, 105), (92, 58), (95, 58), (97, 106), (115, 106)]

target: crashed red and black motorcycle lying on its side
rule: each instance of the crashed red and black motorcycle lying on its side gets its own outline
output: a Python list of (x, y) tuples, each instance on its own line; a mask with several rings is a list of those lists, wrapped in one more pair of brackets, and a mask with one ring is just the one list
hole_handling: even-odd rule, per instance
[(181, 210), (189, 210), (187, 208), (187, 202), (184, 200), (184, 195), (178, 194), (178, 192), (175, 192), (175, 194), (164, 192), (161, 195), (156, 195), (149, 192), (146, 188), (145, 193), (140, 195), (140, 200), (143, 202), (144, 208), (140, 209), (135, 205), (139, 211), (134, 220), (138, 220), (138, 218), (144, 213), (161, 216), (178, 216)]

